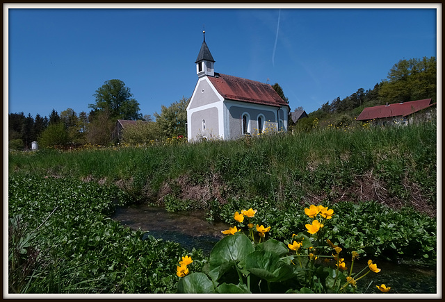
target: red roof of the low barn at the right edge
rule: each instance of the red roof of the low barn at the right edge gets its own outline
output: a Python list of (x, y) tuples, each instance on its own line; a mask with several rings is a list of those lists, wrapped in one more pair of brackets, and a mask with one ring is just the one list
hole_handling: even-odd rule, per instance
[(430, 106), (431, 99), (421, 99), (419, 101), (409, 101), (405, 103), (393, 103), (389, 105), (381, 105), (374, 107), (366, 107), (357, 117), (358, 121), (366, 121), (368, 119), (382, 119), (385, 117), (400, 117), (410, 115)]

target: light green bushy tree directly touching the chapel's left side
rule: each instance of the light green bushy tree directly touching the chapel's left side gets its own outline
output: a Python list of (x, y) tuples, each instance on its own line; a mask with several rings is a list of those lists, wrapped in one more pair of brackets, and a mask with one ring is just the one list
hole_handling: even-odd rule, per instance
[(161, 114), (154, 112), (156, 123), (164, 137), (186, 136), (187, 106), (190, 98), (182, 97), (170, 107), (161, 106)]

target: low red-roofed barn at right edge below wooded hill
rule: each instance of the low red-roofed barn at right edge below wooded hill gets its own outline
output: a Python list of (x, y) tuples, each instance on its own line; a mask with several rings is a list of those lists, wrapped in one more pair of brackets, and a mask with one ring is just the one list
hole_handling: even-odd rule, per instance
[(415, 119), (415, 115), (425, 112), (430, 118), (430, 111), (434, 109), (436, 103), (431, 99), (421, 99), (418, 101), (409, 101), (405, 103), (392, 103), (381, 106), (366, 107), (357, 117), (357, 121), (373, 121), (378, 126), (389, 124), (408, 124)]

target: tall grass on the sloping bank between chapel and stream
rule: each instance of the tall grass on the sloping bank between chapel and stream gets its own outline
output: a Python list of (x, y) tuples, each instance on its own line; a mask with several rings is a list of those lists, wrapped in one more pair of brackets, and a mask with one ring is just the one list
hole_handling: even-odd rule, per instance
[(163, 185), (185, 178), (179, 185), (216, 187), (223, 199), (360, 199), (357, 186), (373, 183), (385, 198), (434, 205), (436, 147), (436, 126), (429, 122), (229, 142), (16, 152), (9, 154), (9, 171), (120, 183), (135, 197), (152, 200)]

